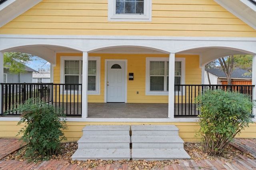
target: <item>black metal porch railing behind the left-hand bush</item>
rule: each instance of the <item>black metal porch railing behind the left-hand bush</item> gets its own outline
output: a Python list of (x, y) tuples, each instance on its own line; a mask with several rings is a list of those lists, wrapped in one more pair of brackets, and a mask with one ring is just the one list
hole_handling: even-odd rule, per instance
[(82, 84), (1, 83), (2, 112), (0, 115), (20, 115), (17, 110), (29, 98), (39, 98), (41, 104), (60, 108), (60, 114), (82, 116)]

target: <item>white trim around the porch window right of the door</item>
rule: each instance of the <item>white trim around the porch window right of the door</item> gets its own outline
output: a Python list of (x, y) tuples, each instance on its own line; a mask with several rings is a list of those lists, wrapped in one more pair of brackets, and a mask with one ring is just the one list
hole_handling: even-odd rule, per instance
[[(168, 96), (169, 92), (150, 91), (150, 61), (169, 61), (168, 57), (146, 57), (146, 95)], [(185, 58), (175, 58), (175, 61), (181, 61), (181, 84), (185, 84)], [(170, 67), (169, 63), (169, 67)], [(169, 68), (170, 69), (170, 68)], [(170, 83), (170, 76), (169, 76)], [(170, 90), (170, 89), (169, 89)], [(184, 92), (184, 90), (183, 90)], [(175, 92), (175, 95), (180, 95), (181, 92)]]

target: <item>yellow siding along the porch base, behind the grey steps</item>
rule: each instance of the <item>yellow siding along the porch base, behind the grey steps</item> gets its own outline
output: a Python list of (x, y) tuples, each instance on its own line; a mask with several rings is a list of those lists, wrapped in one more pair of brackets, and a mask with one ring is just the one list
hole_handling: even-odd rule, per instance
[[(17, 126), (18, 121), (0, 121), (0, 138), (20, 138), (16, 136), (23, 127)], [(82, 129), (86, 125), (176, 125), (179, 129), (179, 136), (185, 142), (200, 141), (196, 138), (196, 131), (200, 128), (197, 122), (67, 122), (68, 129), (64, 130), (67, 141), (78, 141), (82, 137)], [(250, 124), (240, 135), (240, 138), (256, 138), (256, 123)]]

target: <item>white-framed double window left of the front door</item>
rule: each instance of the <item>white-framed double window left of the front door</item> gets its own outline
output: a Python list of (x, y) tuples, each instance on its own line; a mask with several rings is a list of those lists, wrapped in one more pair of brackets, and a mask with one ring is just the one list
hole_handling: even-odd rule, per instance
[[(61, 57), (61, 83), (82, 84), (82, 57)], [(65, 86), (64, 90), (78, 90), (78, 86)], [(88, 94), (100, 94), (100, 57), (88, 58)]]

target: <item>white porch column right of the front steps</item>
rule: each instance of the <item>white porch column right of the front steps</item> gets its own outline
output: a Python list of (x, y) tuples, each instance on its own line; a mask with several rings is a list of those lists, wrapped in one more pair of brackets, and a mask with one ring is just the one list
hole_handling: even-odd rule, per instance
[(169, 55), (169, 94), (168, 94), (168, 117), (174, 118), (174, 70), (175, 70), (175, 53)]

